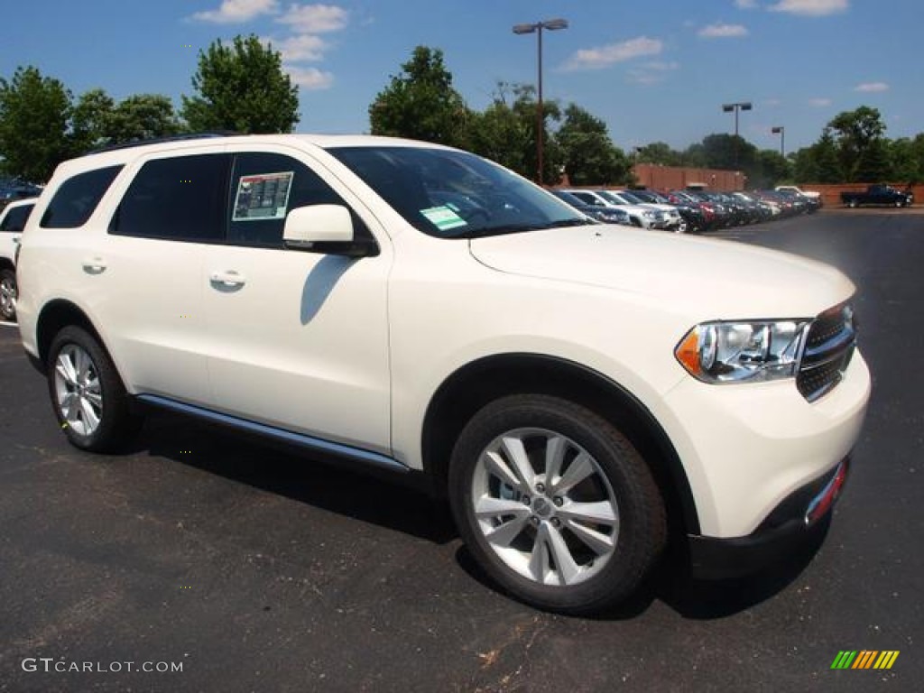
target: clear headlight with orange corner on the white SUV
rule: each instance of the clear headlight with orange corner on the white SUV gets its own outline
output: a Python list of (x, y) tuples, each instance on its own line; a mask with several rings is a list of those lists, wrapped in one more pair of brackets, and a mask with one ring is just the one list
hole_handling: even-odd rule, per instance
[(674, 355), (703, 383), (782, 380), (796, 375), (810, 319), (703, 322), (680, 340)]

